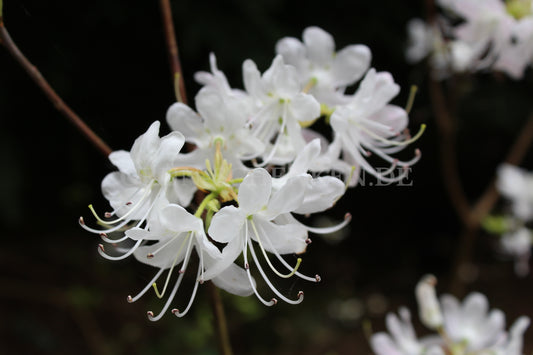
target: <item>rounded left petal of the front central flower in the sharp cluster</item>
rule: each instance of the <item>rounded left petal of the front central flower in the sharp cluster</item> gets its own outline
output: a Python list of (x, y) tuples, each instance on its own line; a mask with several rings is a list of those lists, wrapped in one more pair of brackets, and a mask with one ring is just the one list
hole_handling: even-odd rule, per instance
[(235, 206), (226, 206), (215, 213), (209, 226), (209, 235), (220, 243), (229, 243), (239, 236), (246, 216)]

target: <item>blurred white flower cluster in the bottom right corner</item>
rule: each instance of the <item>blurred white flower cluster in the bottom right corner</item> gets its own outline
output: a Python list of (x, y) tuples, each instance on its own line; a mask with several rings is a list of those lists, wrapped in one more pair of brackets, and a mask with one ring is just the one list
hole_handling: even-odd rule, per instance
[(471, 293), (460, 303), (451, 295), (436, 297), (436, 278), (427, 275), (416, 286), (422, 323), (437, 334), (418, 338), (407, 308), (399, 317), (388, 314), (389, 333), (372, 336), (370, 342), (377, 355), (522, 355), (523, 336), (530, 319), (518, 318), (505, 330), (505, 314), (489, 311), (487, 298)]

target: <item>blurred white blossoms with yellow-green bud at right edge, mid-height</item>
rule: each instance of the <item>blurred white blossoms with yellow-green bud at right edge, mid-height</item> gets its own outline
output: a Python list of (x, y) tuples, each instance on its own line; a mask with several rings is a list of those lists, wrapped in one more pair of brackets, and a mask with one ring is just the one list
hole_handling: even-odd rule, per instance
[(501, 250), (515, 259), (515, 272), (529, 273), (529, 259), (533, 246), (533, 173), (509, 164), (498, 168), (497, 188), (509, 201), (503, 215), (485, 218), (483, 227), (500, 235)]

